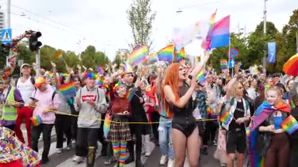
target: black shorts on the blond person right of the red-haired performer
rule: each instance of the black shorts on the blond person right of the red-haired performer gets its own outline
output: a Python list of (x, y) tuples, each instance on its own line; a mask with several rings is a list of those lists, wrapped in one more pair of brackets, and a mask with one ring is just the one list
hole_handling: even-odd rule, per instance
[(228, 131), (226, 134), (226, 152), (244, 154), (246, 150), (245, 131)]

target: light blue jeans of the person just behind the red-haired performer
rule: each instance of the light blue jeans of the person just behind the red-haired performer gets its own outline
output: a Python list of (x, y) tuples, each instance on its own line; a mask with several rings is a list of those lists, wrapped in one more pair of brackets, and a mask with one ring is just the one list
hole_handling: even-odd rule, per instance
[(169, 159), (174, 159), (174, 151), (172, 146), (172, 122), (165, 123), (166, 121), (172, 121), (172, 119), (160, 117), (158, 126), (159, 135), (159, 147), (162, 155), (168, 155)]

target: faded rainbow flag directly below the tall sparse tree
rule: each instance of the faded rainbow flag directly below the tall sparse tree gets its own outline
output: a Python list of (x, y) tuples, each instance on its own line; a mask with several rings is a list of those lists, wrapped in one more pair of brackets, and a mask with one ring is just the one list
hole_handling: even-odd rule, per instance
[(135, 50), (127, 57), (129, 63), (142, 63), (146, 60), (146, 56), (148, 55), (147, 46), (141, 46), (135, 48)]

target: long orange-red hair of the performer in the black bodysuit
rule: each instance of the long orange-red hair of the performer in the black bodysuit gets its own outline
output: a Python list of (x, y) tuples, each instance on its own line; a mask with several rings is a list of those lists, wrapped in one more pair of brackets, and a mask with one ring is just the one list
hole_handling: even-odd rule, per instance
[[(180, 66), (179, 63), (171, 64), (165, 74), (165, 79), (164, 79), (165, 80), (164, 85), (171, 86), (176, 101), (179, 100), (179, 86), (178, 86), (179, 66)], [(173, 115), (172, 112), (169, 110), (169, 103), (167, 102), (167, 100), (165, 98), (164, 87), (161, 88), (161, 100), (163, 102), (165, 110), (167, 112), (170, 112), (169, 115)]]

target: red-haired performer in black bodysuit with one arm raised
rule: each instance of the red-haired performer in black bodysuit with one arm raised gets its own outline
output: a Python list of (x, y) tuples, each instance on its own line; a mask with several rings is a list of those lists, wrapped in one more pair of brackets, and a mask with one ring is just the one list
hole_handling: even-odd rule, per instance
[[(207, 62), (209, 55), (192, 71), (187, 79), (186, 69), (178, 63), (169, 66), (161, 97), (165, 108), (173, 112), (172, 137), (174, 167), (183, 167), (185, 151), (188, 152), (190, 167), (199, 166), (199, 130), (192, 112), (192, 93), (197, 85), (197, 75)], [(188, 82), (188, 84), (186, 83)], [(190, 84), (190, 86), (189, 86)]]

